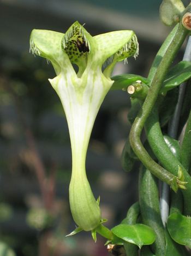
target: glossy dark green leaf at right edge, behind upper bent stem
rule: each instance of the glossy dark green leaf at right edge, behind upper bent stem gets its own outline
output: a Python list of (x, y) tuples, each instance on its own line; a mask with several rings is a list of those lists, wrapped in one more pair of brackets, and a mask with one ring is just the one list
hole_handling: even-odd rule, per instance
[(179, 86), (184, 81), (187, 81), (191, 77), (191, 61), (181, 61), (167, 74), (163, 83), (161, 93), (166, 93), (168, 90)]

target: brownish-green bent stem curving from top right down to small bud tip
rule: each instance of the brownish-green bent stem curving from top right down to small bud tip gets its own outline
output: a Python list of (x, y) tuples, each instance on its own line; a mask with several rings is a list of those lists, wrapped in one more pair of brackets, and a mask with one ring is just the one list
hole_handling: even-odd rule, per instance
[(130, 144), (132, 149), (139, 157), (140, 161), (152, 172), (156, 177), (168, 183), (172, 189), (177, 190), (176, 187), (176, 177), (175, 175), (169, 173), (163, 167), (159, 166), (156, 162), (152, 160), (150, 155), (148, 155), (144, 146), (141, 143), (140, 135), (142, 129), (144, 128), (144, 124), (150, 115), (154, 104), (157, 101), (160, 88), (162, 87), (162, 83), (166, 76), (166, 72), (168, 71), (171, 62), (174, 60), (177, 51), (180, 49), (184, 39), (186, 38), (188, 31), (184, 29), (182, 24), (178, 25), (178, 29), (175, 33), (174, 38), (169, 44), (168, 49), (160, 61), (156, 72), (154, 73), (150, 90), (148, 90), (147, 97), (145, 99), (144, 104), (142, 105), (142, 110), (139, 112), (139, 115), (135, 118), (132, 129), (130, 130)]

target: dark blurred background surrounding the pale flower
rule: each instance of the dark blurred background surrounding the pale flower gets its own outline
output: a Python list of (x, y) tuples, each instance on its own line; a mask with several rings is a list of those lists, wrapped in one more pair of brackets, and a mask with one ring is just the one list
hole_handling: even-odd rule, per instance
[[(105, 240), (75, 229), (68, 187), (71, 152), (61, 103), (45, 59), (29, 53), (32, 29), (65, 32), (78, 20), (91, 35), (134, 30), (140, 53), (114, 75), (147, 76), (169, 28), (159, 20), (161, 0), (0, 0), (0, 256), (106, 256)], [(187, 3), (187, 1), (184, 1)], [(181, 54), (180, 54), (181, 58)], [(130, 107), (126, 92), (109, 92), (98, 113), (87, 154), (87, 176), (112, 227), (138, 199), (138, 168), (122, 170)], [(4, 254), (3, 254), (4, 253)], [(6, 254), (9, 253), (9, 254)]]

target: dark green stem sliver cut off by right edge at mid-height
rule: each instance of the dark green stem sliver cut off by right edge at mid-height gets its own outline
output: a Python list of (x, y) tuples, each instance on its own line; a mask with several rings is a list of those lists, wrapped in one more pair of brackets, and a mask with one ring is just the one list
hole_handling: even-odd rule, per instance
[(181, 162), (183, 166), (189, 170), (191, 164), (191, 111), (187, 121), (187, 127), (181, 145)]

